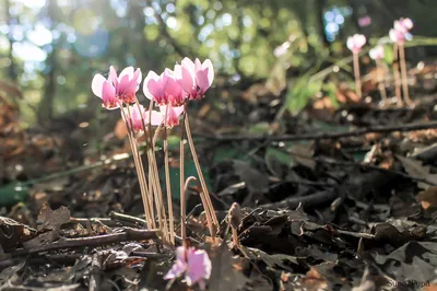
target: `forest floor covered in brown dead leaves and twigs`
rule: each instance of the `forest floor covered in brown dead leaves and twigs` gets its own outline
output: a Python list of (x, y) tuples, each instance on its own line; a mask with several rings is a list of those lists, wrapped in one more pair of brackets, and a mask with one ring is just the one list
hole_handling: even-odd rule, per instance
[[(190, 188), (187, 232), (212, 259), (209, 290), (437, 290), (437, 70), (422, 71), (412, 106), (378, 104), (371, 85), (359, 101), (339, 85), (340, 107), (321, 94), (280, 116), (284, 96), (253, 84), (216, 88), (192, 110), (222, 222), (212, 245)], [(218, 96), (222, 105), (209, 103)], [(99, 136), (74, 115), (23, 130), (19, 107), (0, 101), (0, 289), (188, 290), (163, 279), (174, 247), (144, 229), (123, 124)], [(190, 159), (186, 168), (194, 175)], [(238, 247), (226, 220), (234, 201)]]

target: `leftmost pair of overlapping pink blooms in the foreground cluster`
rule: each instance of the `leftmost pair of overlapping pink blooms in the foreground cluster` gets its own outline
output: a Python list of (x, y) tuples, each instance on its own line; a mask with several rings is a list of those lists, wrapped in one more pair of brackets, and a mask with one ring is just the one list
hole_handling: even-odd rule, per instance
[(94, 75), (91, 89), (93, 93), (102, 98), (103, 107), (115, 109), (119, 107), (118, 101), (133, 103), (135, 93), (141, 82), (141, 70), (133, 67), (125, 68), (120, 75), (117, 75), (113, 66), (109, 67), (108, 79), (102, 74)]

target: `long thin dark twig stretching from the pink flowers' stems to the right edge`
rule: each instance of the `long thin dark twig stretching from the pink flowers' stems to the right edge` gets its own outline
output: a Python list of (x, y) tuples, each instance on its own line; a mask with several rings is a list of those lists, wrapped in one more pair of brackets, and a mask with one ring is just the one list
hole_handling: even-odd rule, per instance
[(385, 133), (393, 131), (414, 131), (423, 129), (437, 128), (437, 121), (426, 123), (426, 124), (406, 124), (400, 126), (375, 126), (367, 127), (363, 129), (357, 129), (353, 131), (343, 132), (317, 132), (317, 133), (303, 133), (303, 135), (283, 135), (283, 136), (210, 136), (210, 135), (194, 135), (199, 138), (216, 140), (216, 141), (294, 141), (294, 140), (321, 140), (321, 139), (339, 139), (346, 137), (357, 137), (366, 133)]

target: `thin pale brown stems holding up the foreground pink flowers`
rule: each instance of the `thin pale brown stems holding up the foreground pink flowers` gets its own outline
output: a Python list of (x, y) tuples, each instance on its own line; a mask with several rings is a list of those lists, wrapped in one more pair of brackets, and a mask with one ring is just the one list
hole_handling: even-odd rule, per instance
[[(188, 102), (188, 101), (187, 101)], [(149, 113), (152, 113), (153, 101), (150, 103)], [(140, 103), (135, 98), (135, 105), (139, 110)], [(149, 114), (149, 120), (144, 120), (144, 117), (141, 115), (143, 132), (145, 135), (145, 151), (147, 158), (147, 173), (144, 171), (143, 162), (141, 159), (141, 153), (139, 150), (139, 136), (132, 130), (132, 118), (130, 106), (123, 106), (120, 104), (121, 114), (123, 116), (123, 120), (126, 121), (126, 126), (128, 128), (128, 137), (129, 143), (132, 151), (132, 156), (138, 174), (138, 179), (140, 184), (141, 197), (144, 206), (145, 220), (147, 222), (147, 226), (150, 229), (160, 229), (163, 233), (163, 240), (170, 244), (175, 244), (175, 223), (174, 223), (174, 211), (173, 211), (173, 197), (172, 197), (172, 188), (170, 188), (170, 178), (169, 178), (169, 158), (168, 158), (168, 140), (167, 140), (167, 114), (168, 114), (168, 105), (165, 110), (165, 116), (163, 119), (164, 124), (161, 124), (155, 129), (152, 127), (152, 114)], [(187, 103), (184, 105), (182, 120), (181, 120), (181, 136), (180, 136), (180, 210), (181, 210), (181, 238), (186, 240), (186, 225), (185, 225), (185, 211), (186, 211), (186, 201), (185, 201), (185, 190), (186, 190), (186, 181), (185, 181), (185, 171), (184, 171), (184, 152), (185, 152), (185, 132), (188, 139), (188, 143), (191, 150), (191, 154), (196, 164), (196, 168), (198, 172), (198, 176), (201, 184), (201, 199), (206, 214), (208, 228), (210, 230), (210, 234), (212, 237), (215, 236), (215, 231), (218, 226), (218, 221), (209, 195), (209, 190), (206, 187), (206, 183), (204, 176), (202, 174), (202, 170), (199, 164), (199, 160), (196, 153), (194, 143), (192, 141), (191, 130), (189, 126), (189, 119), (187, 114)], [(184, 130), (185, 129), (185, 130)], [(156, 163), (155, 156), (155, 144), (157, 137), (163, 130), (163, 142), (164, 142), (164, 166), (165, 166), (165, 185), (166, 185), (166, 196), (167, 196), (167, 209), (165, 208), (164, 199), (163, 199), (163, 190), (161, 187), (160, 173)], [(187, 185), (193, 177), (187, 179)], [(167, 216), (168, 213), (168, 216)]]

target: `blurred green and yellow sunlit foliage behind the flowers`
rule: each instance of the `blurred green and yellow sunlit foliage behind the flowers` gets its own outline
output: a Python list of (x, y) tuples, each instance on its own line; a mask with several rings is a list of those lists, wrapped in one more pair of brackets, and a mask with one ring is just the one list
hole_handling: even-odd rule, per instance
[[(299, 95), (334, 91), (314, 75), (349, 57), (349, 35), (379, 38), (409, 16), (414, 35), (434, 36), (436, 9), (435, 0), (2, 0), (0, 74), (21, 89), (25, 125), (99, 112), (91, 80), (110, 65), (145, 75), (186, 56), (211, 58), (241, 89), (259, 81), (275, 94), (288, 88), (293, 110), (305, 106)], [(433, 54), (421, 47), (414, 56)]]

